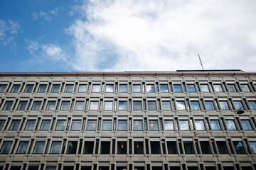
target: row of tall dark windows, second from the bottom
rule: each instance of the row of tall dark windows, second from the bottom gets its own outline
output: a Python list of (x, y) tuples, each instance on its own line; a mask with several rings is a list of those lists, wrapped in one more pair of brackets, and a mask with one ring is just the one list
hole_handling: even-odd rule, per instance
[(169, 154), (177, 154), (180, 156), (186, 154), (256, 154), (256, 138), (249, 137), (242, 139), (241, 137), (168, 137), (168, 138), (133, 138), (124, 137), (110, 138), (94, 137), (86, 138), (58, 138), (53, 137), (47, 139), (44, 137), (26, 138), (21, 137), (14, 139), (5, 137), (0, 139), (0, 154), (92, 154), (97, 157), (99, 154), (107, 154), (114, 156), (116, 154), (144, 154), (148, 157), (151, 154), (161, 154), (167, 156)]

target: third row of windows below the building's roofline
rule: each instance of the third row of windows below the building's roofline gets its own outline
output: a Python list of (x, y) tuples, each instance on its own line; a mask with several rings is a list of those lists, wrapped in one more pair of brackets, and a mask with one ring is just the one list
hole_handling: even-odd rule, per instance
[(18, 131), (183, 131), (256, 130), (254, 117), (250, 116), (73, 116), (73, 117), (0, 117), (0, 130)]

